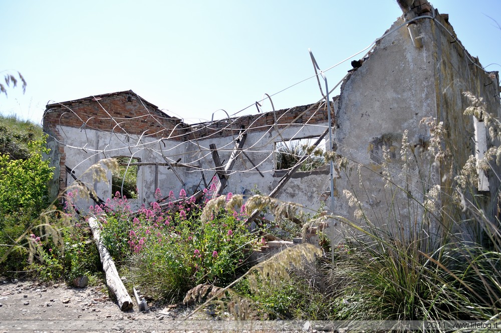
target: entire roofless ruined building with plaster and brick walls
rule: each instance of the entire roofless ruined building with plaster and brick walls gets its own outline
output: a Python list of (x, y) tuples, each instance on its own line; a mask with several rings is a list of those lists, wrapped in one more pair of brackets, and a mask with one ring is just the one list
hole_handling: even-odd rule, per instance
[[(463, 92), (482, 97), (489, 112), (501, 115), (498, 73), (483, 70), (479, 60), (463, 48), (447, 15), (439, 14), (426, 2), (424, 6), (415, 6), (416, 3), (410, 2), (413, 6), (403, 8), (404, 16), (356, 64), (344, 79), (340, 95), (330, 101), (332, 146), (348, 160), (346, 170), (333, 173), (332, 208), (350, 219), (356, 207), (348, 205), (344, 190), (357, 195), (359, 205), (371, 220), (384, 220), (388, 215), (399, 221), (411, 219), (420, 208), (389, 203), (406, 202), (409, 196), (426, 200), (433, 186), (452, 196), (457, 167), (469, 155), (481, 153), (492, 144), (482, 124), (463, 115), (470, 105)], [(280, 167), (280, 147), (311, 145), (318, 140), (319, 148), (330, 149), (327, 110), (324, 101), (186, 124), (133, 91), (50, 104), (44, 114), (44, 130), (50, 135), (51, 158), (57, 167), (53, 194), (77, 178), (92, 185), (100, 198), (109, 198), (111, 174), (105, 183), (95, 183), (82, 174), (100, 159), (116, 156), (133, 157), (130, 162), (138, 166), (134, 171), (136, 206), (153, 202), (157, 188), (163, 194), (171, 190), (179, 193), (183, 188), (191, 195), (217, 175), (227, 179), (223, 193), (252, 195), (258, 189), (269, 194), (290, 167)], [(445, 139), (450, 143), (447, 148), (454, 160), (452, 169), (450, 165), (445, 167), (421, 158), (420, 151), (432, 144), (430, 127), (421, 122), (423, 118), (435, 119), (431, 120), (435, 124), (443, 122)], [(409, 167), (403, 179), (396, 170), (401, 167), (397, 164), (402, 157), (404, 133), (409, 147), (415, 148), (415, 156), (409, 158), (418, 162)], [(228, 161), (234, 163), (228, 165)], [(386, 163), (393, 167), (385, 166)], [(223, 172), (225, 167), (227, 171)], [(317, 210), (322, 194), (330, 191), (328, 167), (314, 165), (295, 172), (276, 197)], [(398, 180), (395, 185), (407, 187), (406, 191), (388, 192), (388, 173)], [(498, 180), (480, 174), (483, 181), (479, 183), (479, 193), (495, 198)], [(364, 180), (362, 187), (359, 176)], [(423, 186), (423, 180), (428, 185)], [(91, 204), (92, 200), (78, 203), (80, 209)], [(490, 213), (494, 211), (492, 206)]]

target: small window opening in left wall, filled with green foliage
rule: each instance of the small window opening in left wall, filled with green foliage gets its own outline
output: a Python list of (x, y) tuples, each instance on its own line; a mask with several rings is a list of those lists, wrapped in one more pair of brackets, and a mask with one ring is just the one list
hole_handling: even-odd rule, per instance
[[(113, 157), (117, 160), (119, 164), (118, 173), (113, 173), (111, 181), (111, 195), (112, 198), (115, 197), (115, 193), (121, 193), (121, 196), (127, 197), (127, 199), (137, 199), (137, 173), (139, 171), (138, 165), (127, 165), (130, 163), (140, 162), (137, 157), (130, 156), (115, 156)], [(125, 172), (127, 170), (127, 173)], [(124, 180), (125, 179), (125, 180)], [(123, 191), (122, 191), (123, 182)]]

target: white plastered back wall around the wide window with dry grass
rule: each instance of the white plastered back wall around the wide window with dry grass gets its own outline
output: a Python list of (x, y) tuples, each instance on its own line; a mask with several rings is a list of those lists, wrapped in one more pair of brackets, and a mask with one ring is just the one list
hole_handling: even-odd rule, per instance
[[(326, 118), (324, 114), (323, 117)], [(248, 131), (245, 139), (245, 144), (242, 149), (262, 171), (261, 176), (253, 167), (252, 163), (243, 155), (240, 154), (236, 163), (232, 168), (232, 173), (229, 176), (227, 187), (223, 193), (232, 192), (234, 194), (244, 194), (247, 196), (254, 195), (253, 189), (257, 188), (262, 194), (268, 195), (278, 185), (284, 171), (275, 171), (275, 142), (288, 140), (291, 138), (307, 138), (318, 137), (326, 129), (327, 122), (315, 124), (290, 124), (279, 125), (277, 127), (268, 126), (259, 130), (254, 129)], [(279, 135), (280, 132), (280, 135)], [(193, 152), (190, 159), (202, 157), (202, 165), (205, 168), (214, 169), (214, 161), (212, 159), (209, 145), (214, 143), (217, 147), (219, 157), (225, 160), (225, 164), (231, 155), (235, 146), (234, 138), (238, 136), (238, 130), (234, 131), (234, 136), (213, 136), (191, 141), (187, 150)], [(315, 139), (312, 139), (312, 143)], [(326, 136), (325, 142), (327, 142)], [(326, 143), (319, 148), (325, 150)], [(213, 170), (205, 171), (205, 179), (208, 181), (214, 176)], [(196, 187), (200, 182), (200, 172), (189, 171), (185, 174), (187, 184), (191, 184), (192, 188)], [(292, 201), (301, 204), (308, 209), (316, 211), (321, 206), (319, 196), (329, 190), (329, 173), (325, 169), (323, 171), (314, 172), (297, 172), (287, 185), (278, 192), (276, 198), (283, 201)], [(193, 190), (192, 190), (193, 191)]]

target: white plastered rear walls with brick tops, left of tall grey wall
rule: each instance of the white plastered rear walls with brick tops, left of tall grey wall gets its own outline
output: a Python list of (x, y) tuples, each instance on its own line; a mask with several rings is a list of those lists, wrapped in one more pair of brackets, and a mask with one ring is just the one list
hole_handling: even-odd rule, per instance
[[(122, 98), (121, 93), (103, 96), (106, 98), (100, 100), (101, 106), (111, 108), (111, 110), (106, 110), (106, 113), (117, 114), (114, 111), (116, 105), (110, 103), (117, 98)], [(111, 102), (108, 101), (108, 98)], [(227, 162), (235, 145), (234, 140), (242, 127), (246, 128), (247, 133), (242, 149), (257, 164), (263, 176), (246, 156), (240, 154), (232, 168), (228, 185), (223, 193), (232, 192), (250, 196), (253, 195), (252, 190), (257, 188), (263, 194), (269, 194), (285, 174), (284, 171), (274, 170), (275, 143), (293, 138), (318, 137), (327, 128), (325, 105), (307, 105), (289, 110), (279, 110), (275, 114), (269, 112), (257, 116), (235, 118), (229, 120), (229, 123), (226, 120), (219, 120), (213, 123), (199, 124), (186, 131), (182, 136), (183, 140), (179, 140), (180, 136), (176, 136), (174, 139), (165, 139), (154, 135), (143, 135), (144, 133), (137, 129), (135, 130), (137, 134), (124, 134), (126, 131), (123, 129), (122, 133), (120, 130), (103, 130), (106, 128), (104, 125), (103, 128), (92, 128), (77, 126), (79, 122), (70, 121), (73, 118), (81, 119), (83, 116), (92, 120), (93, 114), (98, 111), (91, 111), (89, 103), (92, 105), (96, 101), (84, 100), (82, 105), (78, 101), (74, 101), (71, 103), (71, 112), (66, 112), (68, 110), (63, 112), (60, 108), (56, 109), (51, 106), (46, 114), (46, 130), (53, 133), (52, 140), (54, 142), (57, 138), (57, 141), (62, 143), (55, 145), (57, 149), (54, 151), (57, 151), (59, 155), (55, 155), (53, 158), (53, 164), (59, 165), (61, 168), (59, 177), (61, 189), (65, 189), (73, 183), (73, 178), (66, 172), (67, 165), (74, 169), (74, 175), (79, 180), (96, 189), (101, 199), (109, 198), (111, 196), (111, 173), (108, 174), (108, 181), (103, 183), (95, 182), (90, 176), (83, 175), (91, 165), (105, 157), (132, 156), (143, 163), (165, 163), (164, 157), (171, 161), (181, 158), (180, 163), (199, 165), (199, 168), (174, 167), (178, 176), (185, 183), (184, 185), (181, 184), (172, 170), (167, 170), (166, 166), (141, 165), (137, 175), (138, 197), (140, 199), (132, 202), (133, 207), (151, 204), (155, 200), (154, 193), (157, 188), (164, 196), (171, 190), (177, 195), (182, 188), (187, 191), (188, 195), (203, 189), (204, 184), (200, 170), (203, 170), (207, 182), (215, 174), (215, 165), (209, 145), (216, 144), (221, 161)], [(59, 114), (56, 110), (63, 113)], [(136, 110), (137, 112), (141, 111)], [(59, 118), (57, 125), (54, 125), (53, 121), (55, 121), (56, 115)], [(82, 124), (82, 122), (80, 123)], [(181, 125), (178, 127), (184, 128), (185, 125)], [(169, 136), (170, 133), (164, 134)], [(325, 149), (325, 143), (320, 147)], [(223, 163), (225, 164), (225, 162)], [(325, 186), (328, 184), (328, 178), (327, 170), (298, 172), (278, 193), (277, 198), (284, 201), (294, 201), (317, 210), (321, 205), (319, 195), (328, 190), (328, 186)], [(91, 204), (93, 204), (91, 201), (80, 200), (78, 208), (85, 210)]]

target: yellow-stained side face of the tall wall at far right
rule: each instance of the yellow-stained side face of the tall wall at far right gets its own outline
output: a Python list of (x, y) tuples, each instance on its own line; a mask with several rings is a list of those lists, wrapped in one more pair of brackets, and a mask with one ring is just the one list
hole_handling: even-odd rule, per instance
[[(449, 33), (450, 32), (450, 33)], [(472, 57), (457, 39), (454, 30), (446, 19), (437, 16), (436, 21), (431, 22), (431, 33), (433, 35), (433, 59), (435, 70), (435, 90), (436, 90), (436, 117), (444, 122), (447, 129), (447, 148), (451, 150), (453, 156), (452, 172), (457, 174), (458, 170), (465, 164), (471, 154), (474, 154), (474, 123), (473, 116), (465, 116), (464, 110), (471, 105), (471, 102), (464, 96), (464, 92), (471, 92), (475, 96), (482, 97), (487, 103), (487, 111), (498, 119), (501, 116), (499, 106), (499, 77), (497, 72), (487, 73), (482, 68), (477, 58)], [(485, 137), (483, 138), (485, 139)], [(488, 141), (488, 147), (499, 142)], [(488, 148), (487, 147), (487, 148)], [(499, 168), (495, 163), (491, 164), (495, 174), (499, 175)], [(440, 169), (443, 188), (452, 195), (452, 177), (450, 170)], [(497, 197), (499, 180), (493, 173), (487, 175), (489, 182), (489, 193), (477, 192), (477, 198), (486, 204), (487, 216), (493, 220), (497, 214), (497, 202), (492, 200)], [(471, 198), (470, 198), (471, 199)], [(452, 215), (453, 212), (448, 212)], [(465, 216), (458, 216), (456, 219), (465, 219)], [(473, 233), (475, 228), (464, 224), (464, 227)]]

